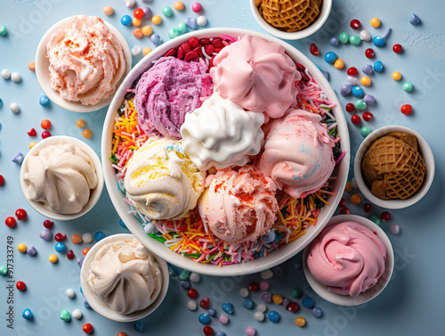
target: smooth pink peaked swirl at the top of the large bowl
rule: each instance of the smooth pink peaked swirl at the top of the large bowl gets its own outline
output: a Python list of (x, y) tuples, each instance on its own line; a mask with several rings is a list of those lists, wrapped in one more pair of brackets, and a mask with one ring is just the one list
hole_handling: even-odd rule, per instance
[(279, 118), (296, 106), (301, 75), (295, 61), (282, 45), (263, 38), (247, 35), (224, 47), (214, 57), (210, 75), (215, 91), (247, 111)]

